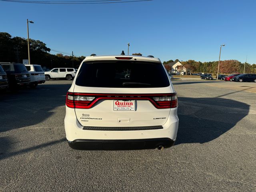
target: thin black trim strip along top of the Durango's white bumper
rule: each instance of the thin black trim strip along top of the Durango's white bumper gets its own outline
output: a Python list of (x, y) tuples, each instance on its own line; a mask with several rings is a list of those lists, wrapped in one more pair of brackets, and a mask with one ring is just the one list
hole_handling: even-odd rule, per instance
[(136, 130), (155, 130), (163, 129), (162, 126), (146, 126), (146, 127), (91, 127), (84, 126), (83, 130), (97, 130), (97, 131), (136, 131)]

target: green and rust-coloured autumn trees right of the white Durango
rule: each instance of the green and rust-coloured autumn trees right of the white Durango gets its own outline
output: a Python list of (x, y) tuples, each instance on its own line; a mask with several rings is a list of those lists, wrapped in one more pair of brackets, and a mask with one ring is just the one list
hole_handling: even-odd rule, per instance
[[(179, 61), (176, 59), (175, 61)], [(173, 60), (164, 61), (163, 64), (166, 70), (171, 70), (170, 62), (174, 62)], [(212, 73), (217, 74), (218, 71), (218, 61), (210, 61), (210, 62), (200, 62), (195, 60), (188, 60), (180, 62), (182, 66), (184, 66), (187, 71), (191, 73)], [(232, 74), (232, 73), (254, 73), (256, 74), (256, 64), (249, 63), (241, 63), (238, 60), (224, 60), (220, 61), (219, 74)], [(180, 69), (179, 69), (180, 70)]]

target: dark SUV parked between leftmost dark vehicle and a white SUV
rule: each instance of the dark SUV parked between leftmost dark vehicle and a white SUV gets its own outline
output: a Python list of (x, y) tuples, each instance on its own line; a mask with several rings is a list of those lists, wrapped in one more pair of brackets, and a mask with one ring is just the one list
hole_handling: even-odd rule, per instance
[(28, 85), (30, 83), (30, 74), (24, 64), (21, 63), (0, 63), (4, 68), (9, 86), (16, 89), (18, 86)]

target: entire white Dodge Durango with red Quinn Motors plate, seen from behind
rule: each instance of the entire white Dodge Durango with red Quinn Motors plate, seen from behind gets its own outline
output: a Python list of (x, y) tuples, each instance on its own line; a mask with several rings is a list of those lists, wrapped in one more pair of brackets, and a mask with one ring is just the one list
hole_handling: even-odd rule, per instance
[(176, 140), (177, 108), (158, 58), (88, 56), (66, 96), (66, 138), (84, 150), (168, 148)]

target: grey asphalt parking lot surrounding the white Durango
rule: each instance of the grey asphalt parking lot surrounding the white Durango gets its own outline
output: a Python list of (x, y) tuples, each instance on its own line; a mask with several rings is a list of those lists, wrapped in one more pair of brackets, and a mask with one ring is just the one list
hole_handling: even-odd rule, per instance
[(172, 82), (179, 131), (162, 151), (69, 148), (71, 81), (0, 94), (0, 191), (256, 191), (256, 83)]

